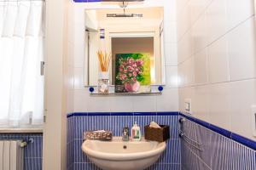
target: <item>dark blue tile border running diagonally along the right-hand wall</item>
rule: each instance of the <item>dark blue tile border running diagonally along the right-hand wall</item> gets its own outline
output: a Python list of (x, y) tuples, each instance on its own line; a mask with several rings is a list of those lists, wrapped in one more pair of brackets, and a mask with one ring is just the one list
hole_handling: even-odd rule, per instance
[(219, 133), (219, 134), (223, 135), (224, 137), (226, 137), (228, 139), (235, 140), (236, 142), (238, 142), (240, 144), (246, 145), (247, 147), (249, 147), (253, 150), (256, 150), (256, 142), (253, 141), (252, 139), (247, 139), (245, 137), (242, 137), (239, 134), (232, 133), (232, 132), (230, 132), (230, 131), (228, 131), (224, 128), (217, 127), (215, 125), (212, 125), (211, 123), (201, 121), (200, 119), (197, 119), (195, 117), (188, 116), (188, 115), (183, 114), (183, 113), (179, 113), (179, 114), (180, 114), (180, 116), (183, 116), (183, 117), (189, 119), (192, 122), (198, 123), (201, 126), (206, 127), (206, 128), (212, 130), (215, 133)]

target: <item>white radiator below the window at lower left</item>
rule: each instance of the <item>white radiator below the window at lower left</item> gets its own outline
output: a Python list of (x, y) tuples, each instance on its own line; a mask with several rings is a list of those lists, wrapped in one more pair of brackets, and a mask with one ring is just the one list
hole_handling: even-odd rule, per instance
[(19, 140), (0, 140), (0, 170), (23, 170), (24, 150)]

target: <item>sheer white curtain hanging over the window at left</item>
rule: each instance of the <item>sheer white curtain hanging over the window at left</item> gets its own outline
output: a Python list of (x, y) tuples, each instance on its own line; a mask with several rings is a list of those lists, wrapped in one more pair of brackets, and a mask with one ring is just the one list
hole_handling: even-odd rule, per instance
[(44, 2), (0, 0), (0, 127), (43, 123)]

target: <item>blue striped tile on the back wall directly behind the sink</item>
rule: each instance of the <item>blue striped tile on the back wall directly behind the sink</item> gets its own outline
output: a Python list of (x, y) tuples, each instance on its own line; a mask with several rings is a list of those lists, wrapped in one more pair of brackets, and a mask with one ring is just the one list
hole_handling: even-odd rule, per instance
[[(81, 150), (83, 132), (87, 130), (105, 129), (113, 131), (114, 136), (121, 136), (122, 128), (132, 127), (137, 122), (141, 127), (151, 121), (167, 124), (171, 127), (171, 139), (160, 160), (148, 170), (180, 170), (181, 153), (178, 138), (178, 113), (73, 113), (67, 116), (67, 169), (98, 170)], [(142, 131), (144, 129), (142, 128)], [(144, 132), (143, 132), (144, 133)]]

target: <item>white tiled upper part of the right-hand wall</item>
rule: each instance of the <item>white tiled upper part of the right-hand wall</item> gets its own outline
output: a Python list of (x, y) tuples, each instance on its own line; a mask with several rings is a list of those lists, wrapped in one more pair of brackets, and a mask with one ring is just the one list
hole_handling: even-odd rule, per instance
[(179, 111), (192, 99), (193, 116), (256, 140), (255, 34), (253, 0), (178, 1)]

